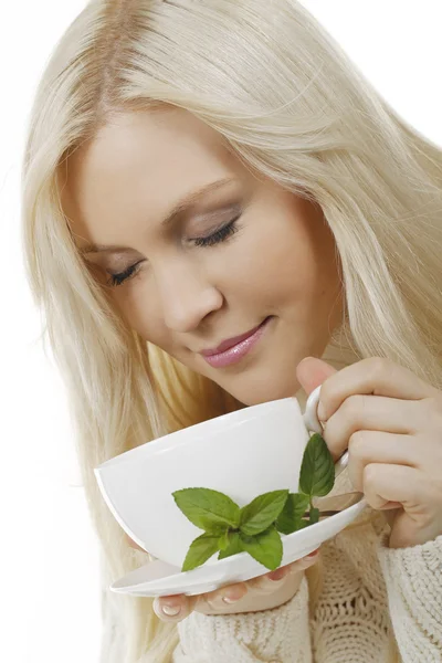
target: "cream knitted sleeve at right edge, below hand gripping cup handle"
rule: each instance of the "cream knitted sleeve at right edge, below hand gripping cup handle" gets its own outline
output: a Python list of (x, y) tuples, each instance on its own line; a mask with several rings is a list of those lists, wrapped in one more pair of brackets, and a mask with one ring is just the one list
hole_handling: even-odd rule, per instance
[(377, 550), (403, 663), (442, 662), (442, 536), (410, 548)]

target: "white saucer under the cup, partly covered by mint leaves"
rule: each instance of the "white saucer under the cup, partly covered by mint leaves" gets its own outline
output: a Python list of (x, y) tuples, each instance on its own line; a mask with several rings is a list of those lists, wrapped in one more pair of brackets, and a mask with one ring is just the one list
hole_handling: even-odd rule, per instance
[[(309, 525), (288, 535), (281, 535), (284, 552), (281, 566), (285, 566), (305, 557), (325, 540), (334, 537), (351, 523), (367, 506), (361, 498), (357, 504), (340, 511), (334, 516)], [(234, 582), (250, 580), (267, 573), (269, 569), (253, 559), (249, 552), (239, 552), (232, 557), (217, 560), (193, 569), (180, 572), (179, 567), (159, 559), (130, 571), (109, 586), (112, 591), (137, 597), (161, 597), (176, 593), (188, 596), (206, 593)]]

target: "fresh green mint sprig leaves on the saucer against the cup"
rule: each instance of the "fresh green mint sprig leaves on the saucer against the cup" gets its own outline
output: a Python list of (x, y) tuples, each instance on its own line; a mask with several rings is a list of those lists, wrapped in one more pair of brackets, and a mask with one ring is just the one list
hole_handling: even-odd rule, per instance
[(283, 557), (281, 534), (318, 523), (320, 512), (313, 506), (313, 498), (328, 495), (334, 485), (332, 454), (325, 440), (314, 433), (303, 455), (299, 493), (271, 491), (240, 508), (228, 495), (212, 488), (176, 491), (172, 495), (177, 506), (204, 530), (190, 545), (181, 570), (203, 565), (218, 551), (218, 559), (245, 551), (267, 569), (277, 569)]

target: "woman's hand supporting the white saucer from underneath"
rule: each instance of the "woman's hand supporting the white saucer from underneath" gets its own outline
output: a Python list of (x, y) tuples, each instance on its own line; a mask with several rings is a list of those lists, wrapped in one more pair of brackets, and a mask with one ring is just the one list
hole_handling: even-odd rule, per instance
[[(129, 543), (134, 548), (139, 548), (131, 539)], [(313, 566), (318, 558), (319, 551), (316, 550), (311, 557), (303, 557), (264, 576), (246, 582), (229, 585), (203, 594), (193, 597), (173, 594), (156, 598), (154, 610), (159, 619), (168, 622), (179, 622), (193, 610), (203, 614), (233, 614), (270, 610), (294, 597), (299, 588), (304, 570)]]

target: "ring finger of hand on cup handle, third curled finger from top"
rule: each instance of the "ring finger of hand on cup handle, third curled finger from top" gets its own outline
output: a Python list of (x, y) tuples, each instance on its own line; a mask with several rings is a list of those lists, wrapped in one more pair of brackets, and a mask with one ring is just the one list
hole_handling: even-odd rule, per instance
[(348, 476), (357, 491), (364, 491), (364, 471), (371, 463), (407, 465), (422, 470), (425, 453), (414, 435), (379, 431), (357, 431), (348, 443)]

